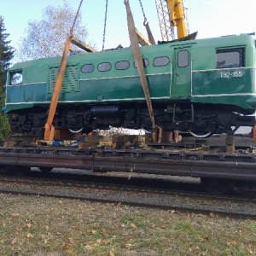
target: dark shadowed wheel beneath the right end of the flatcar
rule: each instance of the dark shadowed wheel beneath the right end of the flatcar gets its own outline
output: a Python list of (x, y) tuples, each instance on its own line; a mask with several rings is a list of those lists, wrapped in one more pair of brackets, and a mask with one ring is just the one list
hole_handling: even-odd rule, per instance
[(211, 194), (224, 194), (230, 189), (230, 182), (222, 178), (201, 177), (201, 184)]

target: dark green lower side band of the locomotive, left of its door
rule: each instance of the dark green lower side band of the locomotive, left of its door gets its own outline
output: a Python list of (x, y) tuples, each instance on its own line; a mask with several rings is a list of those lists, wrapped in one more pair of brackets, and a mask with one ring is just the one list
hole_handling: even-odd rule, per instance
[[(149, 92), (154, 98), (169, 99), (170, 74), (147, 76)], [(155, 86), (157, 85), (157, 86)], [(116, 79), (80, 80), (79, 92), (61, 91), (62, 102), (134, 102), (144, 101), (144, 92), (139, 77)], [(47, 94), (49, 86), (45, 84), (24, 84), (7, 86), (6, 110), (27, 108), (37, 104), (49, 105), (52, 94)]]

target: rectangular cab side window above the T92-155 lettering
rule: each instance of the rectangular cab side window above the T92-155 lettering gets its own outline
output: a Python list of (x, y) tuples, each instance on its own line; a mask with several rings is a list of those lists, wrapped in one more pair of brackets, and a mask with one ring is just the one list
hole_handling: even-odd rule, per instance
[(217, 68), (244, 67), (244, 49), (218, 49)]

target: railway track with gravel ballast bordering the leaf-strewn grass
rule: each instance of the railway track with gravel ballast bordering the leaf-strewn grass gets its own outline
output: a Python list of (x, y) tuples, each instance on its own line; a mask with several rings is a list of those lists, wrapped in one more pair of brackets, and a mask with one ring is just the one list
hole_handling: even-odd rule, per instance
[(256, 198), (247, 195), (209, 195), (191, 189), (172, 190), (113, 183), (78, 183), (34, 177), (0, 177), (0, 193), (49, 196), (135, 207), (157, 207), (173, 212), (196, 212), (233, 218), (256, 218)]

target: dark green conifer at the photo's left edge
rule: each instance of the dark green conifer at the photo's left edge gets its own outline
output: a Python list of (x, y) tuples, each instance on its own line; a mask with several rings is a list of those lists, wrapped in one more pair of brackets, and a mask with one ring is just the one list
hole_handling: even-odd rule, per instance
[[(10, 66), (10, 61), (14, 57), (14, 49), (9, 46), (10, 41), (7, 40), (9, 34), (5, 33), (5, 31), (3, 17), (0, 16), (0, 108), (4, 105), (4, 85), (7, 70)], [(8, 118), (0, 109), (0, 140), (3, 141), (8, 133)]]

